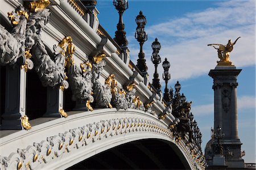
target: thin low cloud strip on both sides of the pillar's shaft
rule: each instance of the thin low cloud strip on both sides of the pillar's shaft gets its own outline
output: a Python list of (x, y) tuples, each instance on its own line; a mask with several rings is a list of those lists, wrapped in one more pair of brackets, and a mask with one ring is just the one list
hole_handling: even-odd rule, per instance
[[(255, 107), (255, 97), (254, 96), (242, 96), (237, 98), (237, 109), (242, 110), (242, 109), (251, 109), (251, 108), (256, 108)], [(197, 105), (191, 107), (191, 112), (197, 116), (205, 116), (208, 114), (213, 114), (214, 113), (214, 104), (205, 104), (205, 105)]]

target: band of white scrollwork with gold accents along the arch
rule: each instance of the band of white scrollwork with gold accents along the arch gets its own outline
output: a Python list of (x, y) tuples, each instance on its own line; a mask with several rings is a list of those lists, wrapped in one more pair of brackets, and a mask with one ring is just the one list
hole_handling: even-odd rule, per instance
[(85, 150), (92, 143), (124, 133), (147, 131), (172, 137), (170, 130), (151, 120), (143, 118), (115, 118), (69, 129), (48, 137), (46, 140), (26, 148), (18, 148), (8, 157), (0, 156), (0, 169), (38, 169), (56, 161), (72, 150)]

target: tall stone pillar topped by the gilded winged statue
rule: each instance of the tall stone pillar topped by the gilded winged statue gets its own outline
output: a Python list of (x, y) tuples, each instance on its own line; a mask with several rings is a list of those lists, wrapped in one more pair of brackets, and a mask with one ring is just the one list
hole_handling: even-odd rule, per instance
[(224, 138), (222, 146), (228, 168), (243, 168), (237, 120), (237, 76), (241, 69), (235, 66), (216, 66), (210, 70), (214, 90), (214, 131), (220, 126)]

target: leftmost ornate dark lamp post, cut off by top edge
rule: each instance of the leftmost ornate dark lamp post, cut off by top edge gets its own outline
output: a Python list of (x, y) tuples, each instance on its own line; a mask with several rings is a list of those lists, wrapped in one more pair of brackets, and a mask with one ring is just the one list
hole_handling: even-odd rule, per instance
[(127, 46), (125, 24), (123, 24), (123, 12), (128, 8), (127, 0), (113, 0), (113, 4), (119, 13), (119, 22), (117, 24), (117, 31), (115, 31), (114, 40), (119, 46)]

